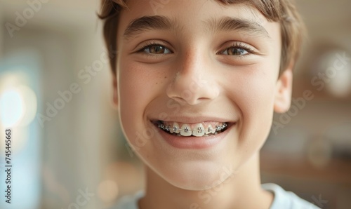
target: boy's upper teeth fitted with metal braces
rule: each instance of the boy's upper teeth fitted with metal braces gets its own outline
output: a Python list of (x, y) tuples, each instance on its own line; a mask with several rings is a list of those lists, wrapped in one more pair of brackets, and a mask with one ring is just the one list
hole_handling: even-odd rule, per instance
[(173, 123), (173, 126), (165, 126), (163, 123), (159, 124), (159, 128), (170, 133), (178, 133), (183, 136), (194, 135), (196, 137), (201, 137), (210, 133), (215, 134), (218, 131), (223, 130), (225, 127), (227, 127), (227, 123), (222, 123), (215, 128), (213, 128), (211, 124), (204, 128), (204, 125), (202, 123), (197, 123), (195, 126), (193, 126), (193, 129), (191, 129), (191, 126), (186, 123), (184, 123), (181, 128), (179, 128), (179, 124), (176, 122)]

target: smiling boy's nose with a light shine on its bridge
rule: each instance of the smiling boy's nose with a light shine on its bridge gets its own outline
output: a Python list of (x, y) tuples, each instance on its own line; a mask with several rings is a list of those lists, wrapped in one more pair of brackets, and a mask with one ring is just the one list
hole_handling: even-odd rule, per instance
[(201, 53), (186, 53), (178, 62), (179, 71), (169, 83), (168, 97), (180, 104), (195, 105), (213, 100), (219, 95), (216, 71), (211, 69), (211, 59)]

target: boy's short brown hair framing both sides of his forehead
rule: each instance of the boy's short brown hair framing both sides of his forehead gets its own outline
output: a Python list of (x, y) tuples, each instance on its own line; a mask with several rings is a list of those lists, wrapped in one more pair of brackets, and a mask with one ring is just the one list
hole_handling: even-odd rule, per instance
[[(282, 32), (282, 59), (280, 72), (296, 62), (305, 27), (293, 0), (216, 0), (222, 4), (250, 4), (267, 20), (279, 22)], [(103, 20), (104, 38), (110, 53), (112, 72), (116, 74), (117, 24), (119, 12), (127, 8), (126, 0), (102, 0), (99, 18)]]

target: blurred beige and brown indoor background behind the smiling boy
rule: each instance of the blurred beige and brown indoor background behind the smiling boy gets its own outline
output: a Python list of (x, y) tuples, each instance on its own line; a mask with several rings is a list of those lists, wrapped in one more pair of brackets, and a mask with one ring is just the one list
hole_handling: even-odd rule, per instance
[[(274, 116), (263, 182), (320, 208), (351, 205), (351, 1), (297, 1), (307, 25), (293, 102)], [(12, 128), (11, 206), (107, 208), (143, 188), (112, 104), (98, 0), (0, 0), (0, 185)]]

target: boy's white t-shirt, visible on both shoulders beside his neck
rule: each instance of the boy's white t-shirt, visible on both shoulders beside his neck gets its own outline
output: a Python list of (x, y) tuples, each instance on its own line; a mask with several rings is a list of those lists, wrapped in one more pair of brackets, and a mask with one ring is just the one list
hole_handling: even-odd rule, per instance
[[(316, 205), (293, 194), (293, 192), (285, 191), (277, 184), (262, 184), (262, 188), (274, 194), (270, 209), (320, 209)], [(134, 196), (124, 196), (111, 209), (138, 209), (138, 200), (142, 197), (143, 191), (139, 191)]]

